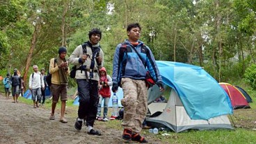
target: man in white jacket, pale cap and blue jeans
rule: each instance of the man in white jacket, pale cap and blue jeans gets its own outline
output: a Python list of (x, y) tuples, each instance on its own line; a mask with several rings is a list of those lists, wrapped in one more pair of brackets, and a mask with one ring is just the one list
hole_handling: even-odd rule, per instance
[(38, 66), (33, 65), (33, 73), (29, 77), (29, 89), (32, 93), (34, 108), (39, 107), (41, 100), (41, 89), (45, 89), (45, 83), (41, 73), (38, 71)]

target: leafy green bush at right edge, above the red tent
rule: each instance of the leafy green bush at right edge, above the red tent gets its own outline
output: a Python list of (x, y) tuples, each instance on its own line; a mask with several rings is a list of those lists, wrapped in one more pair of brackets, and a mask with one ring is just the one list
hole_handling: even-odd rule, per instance
[(250, 87), (253, 87), (253, 89), (256, 89), (256, 64), (252, 64), (246, 69), (246, 72), (244, 73), (244, 80), (250, 84)]

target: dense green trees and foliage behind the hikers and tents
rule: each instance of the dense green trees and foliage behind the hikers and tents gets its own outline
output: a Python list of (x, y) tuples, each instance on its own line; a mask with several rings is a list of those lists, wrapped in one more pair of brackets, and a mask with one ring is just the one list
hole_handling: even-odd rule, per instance
[(115, 46), (127, 38), (127, 25), (138, 21), (141, 40), (157, 60), (199, 65), (226, 82), (243, 78), (256, 63), (255, 15), (250, 0), (3, 0), (0, 74), (17, 68), (26, 77), (33, 64), (47, 68), (59, 46), (70, 55), (95, 27), (103, 32), (104, 64), (111, 74)]

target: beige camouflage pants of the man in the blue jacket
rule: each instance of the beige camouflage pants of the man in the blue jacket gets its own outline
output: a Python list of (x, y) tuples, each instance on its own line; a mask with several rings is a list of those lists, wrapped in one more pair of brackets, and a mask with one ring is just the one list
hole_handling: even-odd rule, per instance
[(122, 91), (124, 98), (124, 119), (122, 127), (141, 132), (142, 123), (147, 114), (147, 87), (144, 80), (122, 78)]

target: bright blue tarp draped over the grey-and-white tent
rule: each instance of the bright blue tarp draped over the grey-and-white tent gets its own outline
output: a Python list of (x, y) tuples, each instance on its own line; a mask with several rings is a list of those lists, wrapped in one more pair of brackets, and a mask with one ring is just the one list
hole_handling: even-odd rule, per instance
[(164, 84), (177, 91), (193, 120), (208, 120), (232, 114), (227, 93), (202, 67), (179, 62), (157, 61)]

